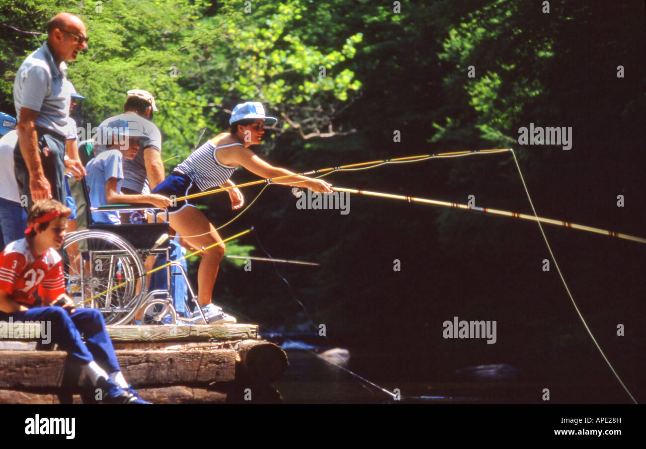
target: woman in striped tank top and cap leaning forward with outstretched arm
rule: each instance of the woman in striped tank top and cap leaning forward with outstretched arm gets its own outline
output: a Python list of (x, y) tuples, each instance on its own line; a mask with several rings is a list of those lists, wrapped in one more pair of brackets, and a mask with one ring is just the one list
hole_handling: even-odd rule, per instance
[[(288, 176), (276, 183), (296, 185), (311, 189), (313, 192), (330, 193), (332, 189), (328, 182), (299, 176), (286, 169), (273, 167), (249, 149), (251, 145), (260, 143), (264, 134), (265, 120), (276, 121), (277, 119), (265, 116), (264, 107), (258, 101), (247, 101), (247, 103), (237, 105), (229, 120), (230, 131), (218, 134), (194, 151), (176, 167), (171, 176), (155, 187), (153, 193), (165, 196), (175, 195), (175, 198), (178, 198), (187, 195), (193, 187), (200, 191), (206, 191), (218, 186), (233, 186), (235, 184), (229, 178), (240, 165), (262, 178)], [(228, 192), (231, 198), (231, 207), (233, 209), (242, 207), (244, 199), (240, 190), (234, 188)], [(185, 238), (193, 247), (208, 247), (216, 242), (222, 242), (214, 225), (209, 223), (204, 214), (188, 201), (177, 202), (177, 205), (169, 207), (168, 211), (171, 227), (182, 236), (194, 236)], [(203, 309), (206, 312), (211, 312), (211, 308), (213, 308), (209, 305), (224, 251), (224, 244), (220, 244), (202, 253), (202, 262), (200, 262), (198, 270), (198, 300), (200, 306), (207, 306), (207, 309)], [(222, 315), (229, 317), (224, 313)], [(235, 322), (233, 317), (229, 318)], [(220, 322), (231, 322), (231, 320), (223, 318)]]

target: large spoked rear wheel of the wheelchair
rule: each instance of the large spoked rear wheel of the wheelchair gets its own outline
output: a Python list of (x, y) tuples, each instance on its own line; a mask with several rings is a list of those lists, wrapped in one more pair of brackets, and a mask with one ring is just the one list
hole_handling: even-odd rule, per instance
[[(65, 238), (63, 271), (78, 307), (96, 308), (105, 324), (132, 320), (145, 298), (147, 276), (137, 251), (120, 236), (85, 229)], [(123, 285), (120, 285), (124, 283)]]

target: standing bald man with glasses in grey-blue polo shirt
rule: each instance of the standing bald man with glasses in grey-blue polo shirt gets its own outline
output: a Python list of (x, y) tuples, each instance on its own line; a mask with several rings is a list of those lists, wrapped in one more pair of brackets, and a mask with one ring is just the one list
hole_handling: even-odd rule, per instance
[[(65, 172), (85, 176), (78, 152), (65, 152), (70, 88), (65, 61), (87, 49), (87, 30), (79, 17), (62, 12), (47, 23), (47, 42), (30, 54), (14, 81), (18, 143), (16, 181), (23, 206), (54, 198), (65, 202)], [(66, 157), (67, 156), (67, 157)]]

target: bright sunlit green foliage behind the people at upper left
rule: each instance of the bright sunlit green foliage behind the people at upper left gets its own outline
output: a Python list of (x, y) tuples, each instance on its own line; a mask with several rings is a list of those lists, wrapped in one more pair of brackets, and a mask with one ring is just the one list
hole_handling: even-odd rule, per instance
[[(355, 55), (361, 34), (348, 35), (329, 51), (306, 45), (295, 26), (306, 10), (302, 3), (260, 5), (244, 14), (244, 5), (233, 0), (216, 7), (205, 0), (112, 0), (100, 5), (47, 0), (2, 5), (0, 11), (2, 17), (17, 15), (14, 21), (25, 32), (43, 30), (61, 10), (81, 17), (89, 50), (69, 64), (68, 78), (87, 96), (87, 121), (95, 125), (120, 112), (126, 90), (149, 90), (160, 109), (155, 120), (164, 139), (163, 156), (180, 154), (183, 159), (200, 131), (206, 129), (205, 138), (221, 131), (228, 122), (228, 105), (241, 101), (262, 101), (269, 110), (287, 113), (293, 126), (306, 133), (329, 130), (333, 111), (360, 89), (353, 72), (338, 67)], [(19, 41), (21, 34), (6, 23), (0, 29), (3, 41), (15, 47), (0, 46), (6, 65), (0, 99), (11, 110), (17, 66), (37, 43)], [(325, 77), (319, 76), (320, 66), (326, 68)], [(276, 132), (287, 128), (282, 123)]]

